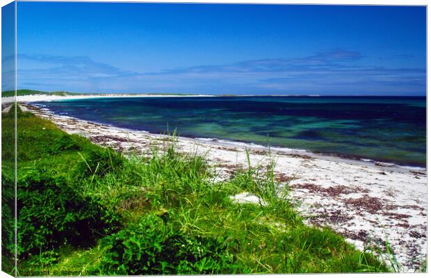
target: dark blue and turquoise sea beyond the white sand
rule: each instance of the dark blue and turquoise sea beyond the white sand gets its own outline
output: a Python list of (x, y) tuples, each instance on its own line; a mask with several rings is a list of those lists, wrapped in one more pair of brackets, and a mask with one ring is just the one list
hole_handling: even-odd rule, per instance
[(425, 166), (425, 97), (142, 97), (43, 102), (128, 129)]

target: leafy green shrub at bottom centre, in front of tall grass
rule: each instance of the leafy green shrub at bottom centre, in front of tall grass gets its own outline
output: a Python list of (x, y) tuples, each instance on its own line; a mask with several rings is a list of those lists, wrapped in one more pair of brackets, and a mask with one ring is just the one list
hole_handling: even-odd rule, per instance
[(190, 237), (172, 224), (148, 214), (102, 240), (108, 246), (102, 275), (231, 273), (236, 264), (225, 238)]

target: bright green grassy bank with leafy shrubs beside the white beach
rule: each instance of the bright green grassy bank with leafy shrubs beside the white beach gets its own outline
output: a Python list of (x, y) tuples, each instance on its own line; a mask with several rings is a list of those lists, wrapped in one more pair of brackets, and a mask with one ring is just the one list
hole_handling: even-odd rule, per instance
[[(2, 124), (11, 144), (13, 117)], [(18, 111), (17, 126), (20, 275), (388, 271), (332, 230), (304, 225), (273, 165), (217, 181), (204, 158), (176, 152), (174, 137), (125, 157), (30, 113)], [(2, 186), (13, 181), (7, 152)], [(232, 202), (243, 192), (261, 202)]]

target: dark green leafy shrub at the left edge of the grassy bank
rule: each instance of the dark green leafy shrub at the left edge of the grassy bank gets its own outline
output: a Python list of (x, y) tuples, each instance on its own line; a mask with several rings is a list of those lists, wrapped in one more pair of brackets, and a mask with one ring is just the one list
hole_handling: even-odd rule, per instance
[(65, 175), (53, 170), (36, 166), (22, 169), (17, 186), (20, 258), (63, 244), (92, 245), (117, 227), (115, 214), (97, 200), (79, 195), (79, 190), (67, 184)]

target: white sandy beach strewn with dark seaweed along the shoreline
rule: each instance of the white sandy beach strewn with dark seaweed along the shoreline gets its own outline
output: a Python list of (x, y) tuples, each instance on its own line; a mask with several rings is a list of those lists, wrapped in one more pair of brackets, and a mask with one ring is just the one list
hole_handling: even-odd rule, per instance
[[(54, 97), (26, 96), (18, 100), (49, 101), (78, 96)], [(154, 144), (165, 142), (163, 135), (54, 115), (29, 104), (20, 106), (23, 111), (51, 120), (67, 133), (77, 133), (124, 153), (145, 154), (151, 152)], [(219, 179), (247, 167), (246, 145), (180, 137), (178, 147), (181, 152), (204, 155)], [(275, 159), (276, 177), (281, 183), (288, 183), (290, 198), (298, 202), (307, 224), (329, 226), (359, 250), (377, 244), (385, 252), (388, 242), (401, 271), (413, 272), (421, 266), (427, 254), (425, 170), (277, 149), (269, 155), (268, 149), (248, 148), (254, 166), (267, 165), (271, 158)], [(257, 201), (257, 197), (247, 193), (232, 198), (238, 202)]]

